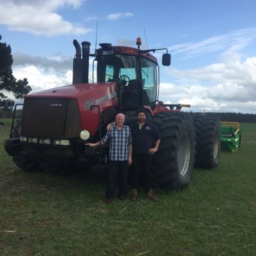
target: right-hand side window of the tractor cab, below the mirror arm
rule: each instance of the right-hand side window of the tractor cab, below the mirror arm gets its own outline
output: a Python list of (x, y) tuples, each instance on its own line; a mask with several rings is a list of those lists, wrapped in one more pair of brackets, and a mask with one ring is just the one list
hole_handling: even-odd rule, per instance
[(157, 65), (156, 63), (141, 58), (141, 77), (143, 91), (147, 93), (150, 105), (154, 105), (157, 97)]

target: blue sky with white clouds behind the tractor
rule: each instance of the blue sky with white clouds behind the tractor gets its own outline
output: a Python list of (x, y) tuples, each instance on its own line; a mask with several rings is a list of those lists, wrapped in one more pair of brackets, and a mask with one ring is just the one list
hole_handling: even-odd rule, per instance
[[(72, 83), (72, 41), (168, 48), (159, 100), (256, 113), (256, 1), (0, 0), (1, 42), (33, 92)], [(145, 35), (147, 36), (147, 42)], [(92, 76), (92, 74), (91, 74)]]

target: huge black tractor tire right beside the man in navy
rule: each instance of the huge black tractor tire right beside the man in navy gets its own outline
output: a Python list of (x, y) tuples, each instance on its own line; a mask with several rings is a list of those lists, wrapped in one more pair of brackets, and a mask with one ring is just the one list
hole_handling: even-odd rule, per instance
[(166, 190), (188, 186), (195, 159), (195, 128), (191, 116), (167, 111), (153, 116), (152, 123), (161, 134), (161, 143), (153, 157), (154, 182)]

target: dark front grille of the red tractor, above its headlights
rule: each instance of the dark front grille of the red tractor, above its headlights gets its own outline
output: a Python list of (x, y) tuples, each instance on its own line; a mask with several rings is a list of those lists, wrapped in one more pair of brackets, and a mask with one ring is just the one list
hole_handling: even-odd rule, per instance
[(35, 138), (70, 139), (81, 132), (76, 99), (26, 98), (20, 135)]

